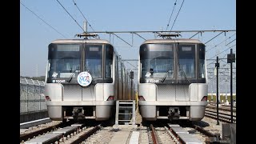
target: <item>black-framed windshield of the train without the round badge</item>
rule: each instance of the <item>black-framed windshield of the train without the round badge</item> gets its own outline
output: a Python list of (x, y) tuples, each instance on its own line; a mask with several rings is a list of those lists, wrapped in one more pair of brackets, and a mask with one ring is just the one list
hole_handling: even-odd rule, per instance
[(205, 46), (195, 43), (146, 43), (140, 47), (140, 82), (206, 81)]

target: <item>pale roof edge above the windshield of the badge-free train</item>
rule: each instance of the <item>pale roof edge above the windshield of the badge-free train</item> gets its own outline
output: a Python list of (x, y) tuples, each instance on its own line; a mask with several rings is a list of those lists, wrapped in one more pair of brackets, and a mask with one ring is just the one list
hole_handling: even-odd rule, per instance
[(188, 39), (188, 38), (177, 38), (177, 39), (149, 39), (143, 42), (142, 44), (149, 43), (202, 43), (198, 39)]

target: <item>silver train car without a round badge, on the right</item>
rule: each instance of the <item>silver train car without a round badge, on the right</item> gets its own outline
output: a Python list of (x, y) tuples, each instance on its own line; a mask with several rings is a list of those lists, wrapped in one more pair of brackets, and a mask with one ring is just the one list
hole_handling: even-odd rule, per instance
[(139, 48), (138, 106), (144, 121), (199, 121), (207, 104), (205, 45), (197, 39), (152, 39)]

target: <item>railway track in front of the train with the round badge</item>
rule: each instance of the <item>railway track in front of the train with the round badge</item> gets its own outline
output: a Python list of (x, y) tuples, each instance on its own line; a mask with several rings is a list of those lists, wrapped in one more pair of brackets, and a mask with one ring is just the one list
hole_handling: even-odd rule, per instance
[(82, 123), (60, 123), (29, 134), (21, 134), (20, 142), (32, 143), (80, 143), (101, 128), (100, 125), (87, 127)]

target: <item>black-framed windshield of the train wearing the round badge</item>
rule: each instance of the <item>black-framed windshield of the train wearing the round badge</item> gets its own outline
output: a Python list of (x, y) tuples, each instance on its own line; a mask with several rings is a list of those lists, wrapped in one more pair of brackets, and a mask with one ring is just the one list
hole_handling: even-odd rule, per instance
[(47, 82), (77, 83), (78, 74), (88, 71), (93, 82), (111, 83), (113, 58), (114, 47), (110, 44), (51, 43), (48, 46)]

